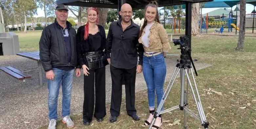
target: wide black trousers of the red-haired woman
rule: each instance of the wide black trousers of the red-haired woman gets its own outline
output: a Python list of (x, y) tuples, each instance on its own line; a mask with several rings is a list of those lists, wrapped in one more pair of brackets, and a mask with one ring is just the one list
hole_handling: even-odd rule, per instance
[(94, 104), (94, 117), (103, 118), (106, 115), (105, 67), (89, 70), (89, 73), (88, 76), (84, 75), (83, 119), (88, 118), (92, 120)]

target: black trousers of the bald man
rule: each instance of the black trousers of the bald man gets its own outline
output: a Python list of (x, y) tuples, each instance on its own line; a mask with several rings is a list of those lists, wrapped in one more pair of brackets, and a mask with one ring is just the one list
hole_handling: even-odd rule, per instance
[(137, 113), (135, 108), (136, 66), (132, 69), (119, 69), (119, 68), (110, 66), (110, 73), (112, 78), (112, 94), (111, 94), (111, 107), (110, 107), (111, 116), (118, 117), (120, 115), (123, 79), (125, 83), (126, 112), (128, 115), (136, 114)]

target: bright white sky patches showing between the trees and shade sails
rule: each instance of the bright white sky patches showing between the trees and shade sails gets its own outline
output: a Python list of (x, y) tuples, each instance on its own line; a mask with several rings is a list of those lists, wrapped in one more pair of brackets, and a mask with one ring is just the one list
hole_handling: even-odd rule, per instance
[[(236, 6), (234, 6), (232, 9), (234, 10), (236, 8)], [(160, 8), (159, 8), (160, 9)], [(202, 9), (202, 14), (216, 10), (219, 8), (203, 8)], [(231, 9), (231, 8), (227, 8), (227, 9)], [(251, 4), (246, 4), (246, 14), (251, 13), (254, 9), (254, 6)], [(75, 17), (75, 15), (72, 12), (69, 12), (69, 16), (71, 17)], [(34, 17), (44, 17), (44, 11), (41, 8), (37, 8), (37, 15), (34, 15)]]

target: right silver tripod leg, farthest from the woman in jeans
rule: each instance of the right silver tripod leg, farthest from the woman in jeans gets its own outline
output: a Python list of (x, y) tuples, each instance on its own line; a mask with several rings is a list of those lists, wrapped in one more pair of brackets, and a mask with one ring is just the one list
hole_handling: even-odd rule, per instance
[[(192, 77), (193, 77), (194, 84), (196, 84), (195, 78), (194, 78), (194, 76), (193, 76), (193, 72), (192, 72), (192, 69), (191, 69), (191, 68), (190, 68), (190, 71), (191, 71), (191, 73), (192, 73)], [(192, 94), (193, 94), (194, 101), (195, 101), (196, 106), (197, 106), (197, 110), (198, 110), (198, 114), (199, 114), (201, 123), (202, 123), (202, 125), (204, 126), (204, 128), (208, 128), (209, 122), (206, 121), (206, 118), (205, 118), (204, 113), (203, 113), (203, 111), (202, 111), (203, 107), (202, 107), (202, 105), (201, 105), (201, 103), (200, 103), (201, 101), (200, 101), (200, 102), (197, 102), (197, 99), (196, 99), (196, 96), (195, 96), (195, 93), (194, 93), (192, 84), (191, 84), (191, 82), (190, 82), (190, 79), (189, 79), (187, 70), (185, 70), (185, 73), (186, 73), (186, 77), (187, 77), (187, 79), (188, 79), (189, 86), (190, 86), (191, 91), (192, 91)], [(196, 87), (196, 85), (195, 85), (195, 87)], [(197, 90), (197, 87), (196, 87), (196, 90)], [(198, 97), (199, 97), (198, 90), (197, 90), (197, 95), (198, 95)], [(200, 100), (200, 97), (199, 97), (199, 100)], [(188, 110), (188, 109), (186, 108), (186, 110)], [(192, 111), (190, 111), (190, 110), (188, 110), (188, 111), (189, 111), (190, 113), (192, 112)], [(194, 114), (192, 114), (192, 115), (194, 115)]]

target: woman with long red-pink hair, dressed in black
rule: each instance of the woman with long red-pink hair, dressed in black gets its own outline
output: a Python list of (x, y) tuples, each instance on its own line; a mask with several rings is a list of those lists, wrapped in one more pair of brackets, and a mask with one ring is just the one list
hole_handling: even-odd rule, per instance
[(78, 28), (76, 36), (78, 64), (84, 73), (84, 125), (91, 124), (93, 114), (97, 121), (103, 121), (106, 115), (105, 66), (108, 62), (103, 52), (106, 34), (103, 26), (97, 24), (98, 19), (98, 10), (88, 8), (87, 23)]

